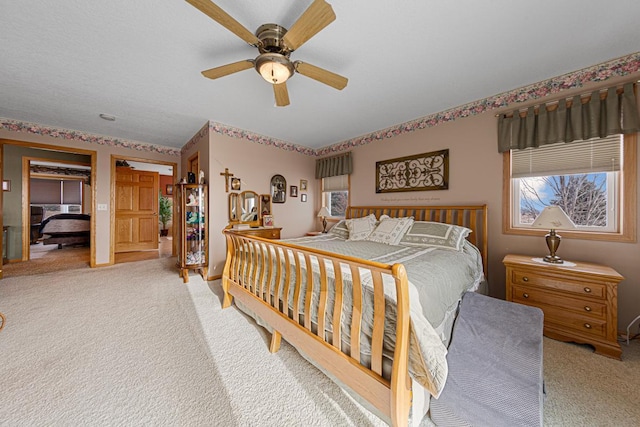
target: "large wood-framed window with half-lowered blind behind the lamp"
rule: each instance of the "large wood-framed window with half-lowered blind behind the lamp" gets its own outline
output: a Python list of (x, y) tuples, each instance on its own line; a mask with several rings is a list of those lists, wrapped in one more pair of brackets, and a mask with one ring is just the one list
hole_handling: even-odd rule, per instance
[(505, 233), (540, 234), (531, 223), (559, 205), (577, 226), (563, 236), (635, 241), (636, 135), (512, 150), (504, 174)]

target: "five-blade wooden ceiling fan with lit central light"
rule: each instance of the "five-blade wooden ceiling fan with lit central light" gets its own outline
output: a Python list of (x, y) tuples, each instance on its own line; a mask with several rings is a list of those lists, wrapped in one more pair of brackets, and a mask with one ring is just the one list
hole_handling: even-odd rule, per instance
[(291, 52), (336, 19), (331, 5), (326, 1), (314, 0), (288, 31), (277, 24), (263, 24), (258, 27), (255, 34), (210, 0), (186, 1), (251, 46), (257, 47), (260, 52), (255, 59), (245, 59), (205, 70), (202, 72), (205, 77), (217, 79), (255, 68), (267, 82), (273, 85), (278, 107), (289, 105), (286, 81), (294, 72), (338, 90), (347, 86), (348, 80), (345, 77), (306, 62), (289, 59)]

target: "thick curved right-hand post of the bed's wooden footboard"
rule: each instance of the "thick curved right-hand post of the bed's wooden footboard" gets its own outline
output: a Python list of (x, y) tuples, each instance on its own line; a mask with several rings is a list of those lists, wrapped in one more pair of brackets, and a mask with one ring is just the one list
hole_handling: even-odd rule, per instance
[(409, 280), (402, 264), (391, 267), (396, 281), (396, 347), (391, 371), (391, 424), (406, 426), (411, 409), (409, 371)]

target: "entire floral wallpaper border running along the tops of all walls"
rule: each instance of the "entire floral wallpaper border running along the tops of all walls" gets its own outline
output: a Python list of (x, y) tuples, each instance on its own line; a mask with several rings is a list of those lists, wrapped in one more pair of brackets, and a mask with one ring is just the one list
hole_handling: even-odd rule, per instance
[(287, 151), (294, 151), (308, 156), (323, 157), (337, 152), (346, 151), (353, 147), (370, 144), (398, 135), (415, 132), (420, 129), (434, 127), (443, 123), (448, 123), (464, 117), (475, 116), (490, 110), (504, 108), (512, 104), (544, 98), (557, 94), (567, 89), (582, 87), (586, 83), (603, 82), (612, 77), (622, 77), (640, 71), (640, 52), (632, 53), (621, 58), (583, 68), (578, 71), (553, 77), (542, 82), (534, 83), (508, 92), (491, 96), (479, 101), (470, 102), (459, 107), (421, 117), (416, 120), (401, 123), (395, 126), (361, 135), (346, 141), (338, 142), (327, 147), (313, 149), (303, 147), (298, 144), (286, 142), (277, 138), (272, 138), (250, 132), (243, 129), (234, 128), (221, 123), (210, 121), (198, 131), (181, 149), (164, 147), (145, 142), (130, 141), (108, 136), (94, 135), (81, 131), (58, 129), (47, 127), (35, 123), (21, 122), (12, 119), (0, 118), (0, 128), (11, 132), (26, 132), (35, 135), (50, 136), (65, 140), (82, 141), (91, 144), (106, 145), (111, 147), (122, 147), (137, 151), (154, 152), (171, 156), (179, 156), (189, 149), (200, 138), (205, 131), (213, 131), (231, 138), (246, 139), (257, 144), (268, 145)]

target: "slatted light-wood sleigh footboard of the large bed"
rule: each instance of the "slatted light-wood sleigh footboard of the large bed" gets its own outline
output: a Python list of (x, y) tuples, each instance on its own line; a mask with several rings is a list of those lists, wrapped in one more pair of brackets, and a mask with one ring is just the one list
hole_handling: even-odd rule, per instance
[[(224, 231), (227, 259), (223, 308), (241, 301), (273, 328), (269, 350), (281, 337), (358, 393), (392, 425), (406, 426), (411, 406), (408, 280), (401, 264), (387, 265), (285, 242)], [(383, 377), (383, 279), (395, 283), (395, 348), (390, 378)], [(363, 312), (373, 306), (371, 360), (362, 360)], [(385, 303), (386, 302), (386, 303)]]

